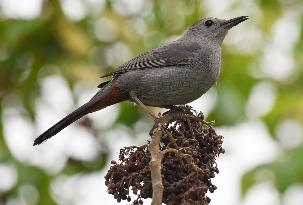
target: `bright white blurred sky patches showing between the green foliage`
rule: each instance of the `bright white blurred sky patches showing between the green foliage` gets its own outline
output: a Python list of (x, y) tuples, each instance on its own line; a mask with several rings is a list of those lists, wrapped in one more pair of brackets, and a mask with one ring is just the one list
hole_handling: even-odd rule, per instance
[[(236, 0), (229, 1), (229, 3), (235, 1)], [(90, 0), (90, 2), (94, 2), (98, 5), (98, 8), (101, 9), (102, 2), (104, 1)], [(129, 2), (129, 4), (136, 5), (135, 0)], [(128, 4), (127, 1), (122, 1), (122, 3)], [(36, 18), (41, 12), (41, 4), (42, 0), (0, 0), (3, 14), (7, 18)], [(233, 18), (241, 15), (249, 15), (261, 19), (262, 14), (253, 1), (246, 1), (242, 4), (243, 7), (241, 11), (229, 9), (229, 4), (225, 3), (225, 1), (220, 1), (220, 3), (219, 1), (206, 1), (204, 6), (209, 11), (208, 16)], [(80, 20), (86, 15), (86, 10), (80, 0), (62, 0), (62, 7), (65, 14), (73, 21)], [(119, 8), (120, 7), (117, 6), (116, 9), (119, 10)], [(133, 10), (130, 9), (130, 12), (133, 12)], [(222, 13), (224, 13), (223, 16), (221, 15)], [(283, 81), (294, 72), (294, 67), (289, 68), (289, 66), (285, 65), (295, 64), (292, 55), (289, 55), (289, 53), (292, 52), (291, 48), (295, 43), (294, 39), (298, 38), (298, 25), (300, 22), (289, 20), (295, 19), (296, 16), (298, 16), (298, 12), (296, 12), (295, 8), (284, 11), (284, 15), (278, 20), (277, 25), (287, 22), (288, 24), (291, 23), (291, 26), (289, 29), (280, 29), (281, 27), (274, 26), (271, 33), (272, 41), (269, 41), (265, 46), (260, 44), (261, 41), (259, 39), (263, 38), (263, 34), (252, 24), (244, 24), (234, 28), (232, 33), (226, 37), (224, 43), (236, 51), (245, 53), (254, 53), (262, 49), (263, 55), (260, 58), (259, 66), (264, 76), (269, 79)], [(243, 33), (246, 34), (244, 35), (245, 38), (243, 38), (243, 35), (241, 36)], [(251, 40), (246, 41), (247, 38)], [(273, 48), (275, 48), (274, 53), (271, 52)], [(271, 61), (272, 58), (278, 58), (279, 61)], [(277, 66), (279, 68), (278, 72), (277, 69), (273, 69), (277, 68)], [(257, 76), (257, 74), (255, 75), (256, 77), (260, 77)], [(65, 128), (43, 145), (36, 147), (31, 146), (33, 136), (41, 134), (73, 109), (71, 91), (63, 78), (60, 76), (50, 76), (45, 78), (41, 82), (41, 85), (43, 95), (42, 99), (37, 99), (36, 113), (38, 122), (40, 122), (37, 126), (32, 125), (28, 119), (23, 117), (22, 108), (20, 107), (16, 109), (5, 109), (2, 116), (3, 119), (5, 119), (3, 124), (5, 140), (14, 157), (24, 163), (42, 167), (50, 174), (58, 173), (62, 170), (66, 163), (66, 157), (72, 156), (82, 160), (89, 160), (96, 157), (100, 149), (100, 143), (96, 142), (90, 130), (77, 126), (76, 124)], [(47, 89), (50, 85), (59, 86), (62, 88), (62, 93), (52, 93), (51, 90)], [(82, 99), (83, 101), (87, 101), (95, 91), (96, 88), (90, 88), (88, 86), (87, 91), (78, 93), (78, 98), (81, 99), (81, 101)], [(260, 104), (258, 100), (263, 96), (267, 96), (267, 98)], [(216, 128), (217, 133), (226, 136), (223, 144), (226, 152), (217, 158), (220, 173), (216, 175), (212, 182), (218, 189), (212, 194), (207, 194), (207, 196), (211, 198), (211, 204), (276, 205), (280, 203), (277, 201), (277, 191), (271, 184), (265, 183), (256, 185), (249, 191), (244, 200), (240, 200), (240, 180), (245, 171), (250, 170), (258, 164), (271, 162), (280, 153), (281, 144), (271, 139), (267, 128), (259, 120), (259, 117), (262, 117), (270, 111), (275, 103), (275, 98), (275, 86), (269, 81), (260, 81), (260, 83), (256, 84), (251, 90), (247, 102), (247, 119), (233, 127)], [(216, 99), (217, 92), (214, 86), (214, 88), (208, 91), (204, 96), (192, 102), (191, 105), (196, 109), (203, 108), (204, 114), (208, 115), (213, 109), (213, 107), (209, 107), (209, 104), (215, 104)], [(16, 101), (18, 101), (17, 97)], [(46, 101), (49, 103), (46, 104)], [(63, 107), (62, 104), (64, 104)], [(106, 126), (117, 117), (117, 115), (113, 114), (116, 109), (118, 109), (118, 106), (113, 105), (90, 114), (89, 117), (95, 121), (94, 126), (100, 127), (100, 125), (102, 125), (102, 127), (100, 127), (101, 129), (106, 128)], [(112, 118), (108, 119), (107, 117), (107, 120), (104, 121), (102, 116), (109, 116), (108, 113), (111, 113)], [(291, 121), (289, 124), (293, 125), (295, 122)], [(137, 126), (146, 127), (146, 130), (148, 130), (150, 122), (138, 122)], [(18, 127), (18, 129), (15, 127)], [(302, 127), (297, 124), (295, 130), (299, 136), (297, 141), (301, 141)], [(101, 149), (112, 151), (109, 156), (110, 160), (118, 161), (117, 152), (122, 145), (143, 144), (145, 143), (145, 139), (149, 138), (147, 132), (135, 133), (135, 138), (130, 135), (125, 135), (125, 133), (131, 134), (131, 131), (123, 125), (118, 125), (117, 129), (109, 133), (104, 133), (104, 138), (98, 139), (102, 142), (107, 141), (106, 144), (109, 147), (101, 147)], [(23, 137), (20, 138), (20, 136)], [(106, 136), (111, 137), (105, 138)], [(242, 144), (239, 144), (240, 139)], [(283, 136), (281, 139), (283, 139)], [(287, 146), (293, 147), (295, 145)], [(235, 161), (238, 163), (234, 163)], [(233, 164), (233, 166), (231, 166), (231, 164)], [(109, 166), (110, 163), (108, 162), (105, 167)], [(9, 190), (14, 186), (18, 178), (14, 170), (15, 168), (12, 165), (0, 164), (0, 191)], [(92, 174), (77, 174), (76, 176), (70, 177), (61, 175), (53, 181), (50, 190), (52, 190), (52, 194), (58, 204), (118, 204), (111, 195), (106, 193), (107, 189), (104, 185), (106, 172), (107, 168), (101, 172)], [(19, 196), (12, 197), (11, 203), (8, 204), (35, 204), (39, 198), (37, 190), (30, 184), (20, 187), (19, 190)], [(282, 197), (283, 203), (292, 205), (302, 204), (303, 197), (297, 194), (298, 190), (303, 191), (303, 187), (293, 186), (289, 188)], [(33, 197), (29, 197), (28, 199), (28, 195)], [(290, 200), (292, 200), (292, 203), (288, 203)], [(127, 204), (127, 201), (122, 201), (120, 204)], [(148, 204), (148, 202), (145, 202), (145, 204)]]

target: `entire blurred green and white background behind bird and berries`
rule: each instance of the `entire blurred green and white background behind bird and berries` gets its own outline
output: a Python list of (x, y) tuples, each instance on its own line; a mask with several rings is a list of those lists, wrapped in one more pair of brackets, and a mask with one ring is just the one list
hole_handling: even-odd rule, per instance
[(112, 105), (45, 144), (33, 140), (109, 79), (99, 76), (202, 18), (242, 15), (250, 19), (222, 44), (217, 84), (190, 104), (226, 137), (207, 196), (302, 205), (301, 0), (0, 0), (0, 204), (118, 204), (104, 176), (120, 147), (149, 139), (140, 107)]

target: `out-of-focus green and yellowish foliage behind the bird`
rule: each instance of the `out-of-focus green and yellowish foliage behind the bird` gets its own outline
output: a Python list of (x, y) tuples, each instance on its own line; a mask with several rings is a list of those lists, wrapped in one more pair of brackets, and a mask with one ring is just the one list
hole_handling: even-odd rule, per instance
[[(125, 1), (106, 0), (99, 10), (99, 7), (94, 8), (94, 5), (83, 1), (87, 11), (85, 17), (71, 20), (62, 11), (60, 2), (62, 3), (58, 0), (44, 1), (41, 15), (31, 20), (6, 18), (5, 15), (1, 15), (0, 114), (7, 107), (21, 106), (25, 109), (24, 115), (29, 116), (34, 122), (35, 100), (41, 95), (39, 84), (41, 79), (59, 73), (68, 81), (72, 90), (79, 81), (98, 85), (102, 82), (98, 79), (99, 76), (137, 55), (175, 40), (194, 22), (206, 17), (209, 9), (205, 6), (208, 5), (207, 3), (198, 0), (186, 2), (146, 0), (137, 2), (138, 8), (135, 5), (127, 6)], [(206, 117), (217, 118), (220, 126), (236, 124), (249, 118), (246, 106), (252, 88), (261, 81), (270, 81), (277, 90), (277, 96), (272, 108), (258, 117), (268, 126), (272, 137), (277, 139), (275, 129), (284, 119), (292, 119), (303, 125), (302, 13), (297, 15), (301, 19), (296, 19), (300, 22), (299, 37), (290, 50), (295, 61), (294, 74), (281, 81), (270, 78), (262, 74), (259, 68), (260, 59), (266, 55), (263, 52), (264, 46), (271, 43), (273, 38), (271, 31), (275, 22), (283, 17), (285, 10), (302, 8), (302, 2), (261, 0), (252, 4), (261, 13), (261, 17), (254, 16), (255, 13), (248, 8), (251, 5), (247, 6), (244, 13), (239, 13), (237, 9), (246, 8), (245, 3), (240, 2), (230, 5), (227, 9), (228, 15), (249, 15), (251, 18), (245, 21), (244, 26), (249, 28), (254, 25), (253, 29), (258, 30), (262, 37), (254, 41), (261, 41), (261, 45), (254, 50), (245, 48), (246, 52), (236, 47), (222, 45), (222, 72), (215, 86), (218, 101), (211, 114)], [(236, 16), (227, 18), (233, 17)], [(235, 33), (237, 31), (231, 35)], [(252, 36), (248, 37), (252, 38)], [(251, 41), (248, 37), (245, 40)], [(238, 44), (240, 45), (241, 42)], [(109, 58), (108, 55), (113, 57)], [(22, 105), (8, 104), (7, 98), (11, 94), (17, 95)], [(258, 100), (262, 102), (266, 101), (266, 98)], [(121, 103), (119, 106), (121, 109), (116, 123), (131, 126), (142, 117), (138, 106), (129, 103)], [(203, 108), (195, 108), (203, 110)], [(2, 117), (1, 120), (5, 119)], [(90, 124), (87, 126), (89, 127)], [(292, 133), (288, 132), (291, 140)], [(5, 204), (9, 197), (18, 195), (18, 187), (24, 183), (31, 183), (37, 187), (41, 195), (39, 204), (54, 204), (49, 193), (49, 185), (55, 176), (49, 176), (42, 168), (16, 160), (8, 149), (3, 134), (2, 123), (0, 123), (0, 161), (14, 165), (18, 173), (18, 181), (12, 189), (0, 193), (0, 204)], [(100, 170), (106, 163), (107, 153), (101, 151), (100, 155), (102, 161), (89, 162), (97, 164), (92, 166), (92, 169), (84, 166), (81, 160), (69, 159), (62, 173), (71, 175)], [(245, 195), (251, 186), (259, 182), (257, 176), (264, 170), (274, 176), (268, 177), (268, 180), (271, 180), (281, 193), (291, 184), (302, 183), (302, 159), (302, 144), (294, 149), (283, 150), (281, 156), (274, 162), (260, 165), (243, 176), (242, 194)]]

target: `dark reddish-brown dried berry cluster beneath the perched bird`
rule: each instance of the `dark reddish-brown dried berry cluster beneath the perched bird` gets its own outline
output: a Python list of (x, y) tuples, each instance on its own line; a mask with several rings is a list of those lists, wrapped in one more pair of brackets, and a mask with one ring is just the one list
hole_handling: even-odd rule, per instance
[[(163, 203), (207, 205), (210, 198), (205, 194), (217, 189), (211, 179), (219, 173), (215, 157), (225, 152), (221, 147), (223, 137), (215, 133), (216, 121), (205, 122), (201, 112), (196, 115), (183, 115), (169, 128), (166, 124), (169, 136), (162, 138), (160, 144), (164, 153), (161, 169)], [(124, 147), (120, 149), (119, 158), (122, 163), (112, 161), (113, 166), (105, 176), (108, 193), (118, 202), (130, 202), (129, 192), (132, 191), (138, 196), (132, 204), (143, 204), (142, 198), (152, 196), (151, 155), (147, 144)]]

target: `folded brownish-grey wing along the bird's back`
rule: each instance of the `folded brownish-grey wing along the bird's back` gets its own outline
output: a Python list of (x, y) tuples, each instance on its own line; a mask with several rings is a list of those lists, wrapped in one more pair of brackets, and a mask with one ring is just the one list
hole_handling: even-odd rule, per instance
[(105, 78), (113, 74), (138, 69), (161, 68), (163, 66), (169, 65), (191, 64), (188, 59), (195, 53), (195, 51), (198, 51), (200, 49), (200, 46), (195, 42), (180, 43), (173, 41), (152, 51), (139, 55), (136, 58), (133, 58), (132, 60), (126, 62), (112, 72), (101, 76), (100, 78)]

